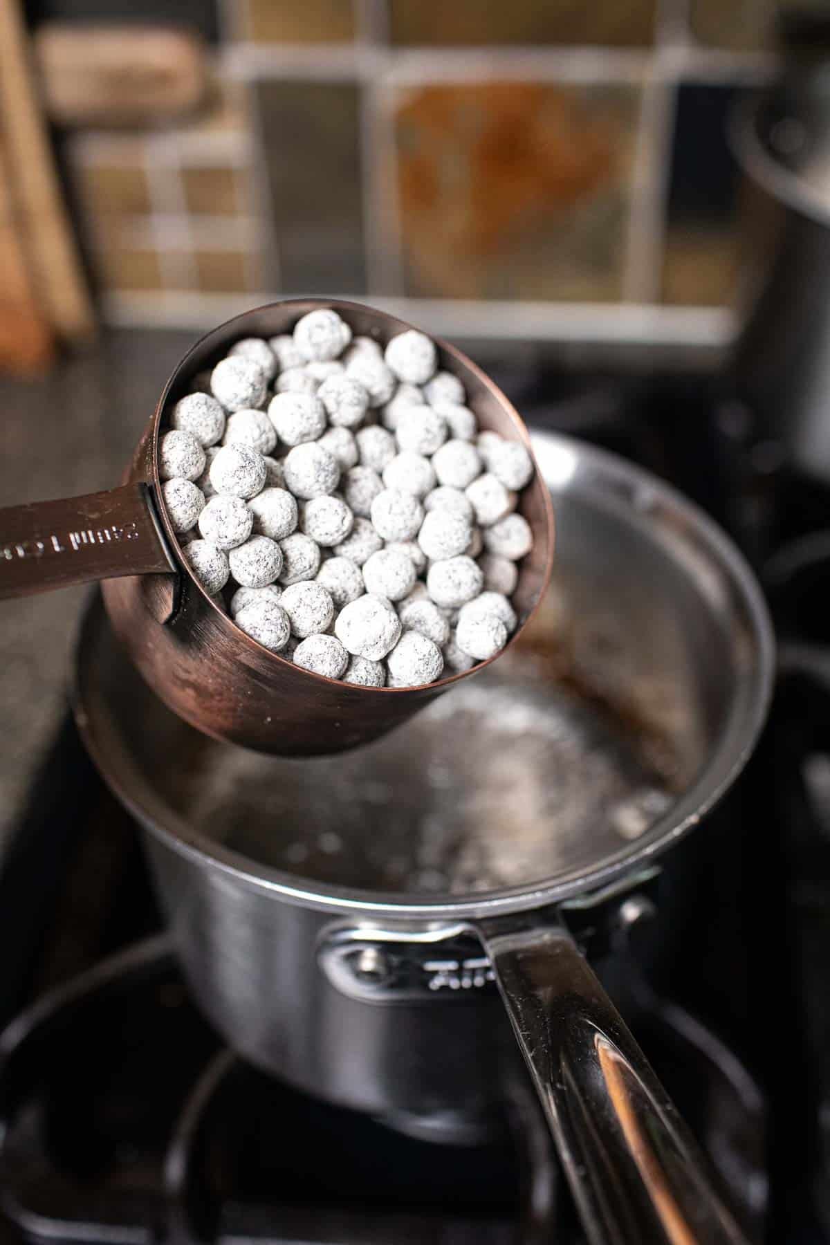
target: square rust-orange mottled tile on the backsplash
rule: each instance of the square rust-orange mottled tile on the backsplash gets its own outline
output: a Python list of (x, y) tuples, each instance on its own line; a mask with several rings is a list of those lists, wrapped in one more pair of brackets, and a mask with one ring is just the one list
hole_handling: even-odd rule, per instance
[(498, 82), (397, 111), (407, 293), (621, 296), (640, 92)]

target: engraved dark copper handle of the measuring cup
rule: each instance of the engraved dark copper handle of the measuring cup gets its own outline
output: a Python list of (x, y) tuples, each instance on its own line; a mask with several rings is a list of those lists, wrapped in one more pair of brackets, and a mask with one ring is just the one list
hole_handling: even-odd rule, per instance
[(0, 599), (172, 570), (143, 483), (0, 509)]

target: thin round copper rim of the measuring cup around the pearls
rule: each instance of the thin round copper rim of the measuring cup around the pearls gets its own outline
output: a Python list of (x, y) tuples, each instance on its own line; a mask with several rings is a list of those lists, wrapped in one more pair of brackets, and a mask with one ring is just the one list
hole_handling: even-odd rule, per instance
[[(406, 320), (401, 320), (398, 316), (391, 315), (388, 311), (381, 311), (377, 308), (368, 306), (367, 304), (347, 301), (345, 299), (297, 298), (297, 299), (277, 299), (273, 303), (265, 303), (260, 306), (250, 308), (248, 311), (243, 311), (239, 315), (233, 316), (230, 320), (225, 320), (223, 324), (217, 325), (217, 327), (212, 329), (209, 332), (203, 334), (203, 336), (199, 337), (198, 341), (195, 341), (190, 346), (187, 354), (179, 360), (179, 362), (174, 367), (173, 372), (168, 377), (168, 381), (162, 391), (162, 396), (159, 397), (158, 403), (156, 406), (156, 411), (153, 415), (152, 436), (149, 439), (149, 456), (151, 456), (149, 469), (152, 473), (153, 500), (156, 504), (156, 509), (158, 512), (158, 520), (164, 530), (164, 537), (170, 555), (175, 561), (179, 573), (185, 574), (188, 576), (193, 586), (204, 596), (205, 601), (210, 605), (210, 608), (215, 610), (217, 614), (223, 620), (221, 626), (233, 627), (233, 635), (236, 642), (241, 642), (243, 647), (249, 647), (251, 652), (256, 652), (258, 657), (261, 654), (265, 654), (268, 657), (274, 659), (277, 662), (282, 662), (285, 665), (292, 665), (292, 662), (290, 662), (286, 657), (282, 657), (279, 652), (273, 652), (270, 649), (266, 649), (264, 645), (259, 644), (258, 640), (254, 640), (245, 631), (243, 631), (241, 627), (238, 627), (235, 621), (231, 618), (229, 618), (229, 615), (223, 609), (220, 609), (220, 606), (217, 604), (215, 598), (210, 596), (210, 594), (205, 591), (203, 585), (199, 583), (192, 568), (189, 566), (187, 559), (183, 557), (183, 548), (179, 544), (178, 535), (173, 530), (173, 524), (170, 523), (170, 517), (168, 514), (167, 505), (164, 504), (164, 497), (158, 472), (158, 443), (162, 436), (162, 420), (168, 408), (168, 403), (170, 401), (173, 391), (179, 385), (182, 385), (182, 382), (193, 378), (193, 375), (195, 372), (195, 369), (193, 367), (194, 357), (199, 359), (205, 346), (208, 346), (213, 339), (215, 339), (217, 342), (217, 352), (219, 352), (223, 349), (223, 344), (224, 347), (226, 349), (234, 341), (246, 336), (245, 324), (248, 321), (254, 319), (255, 316), (261, 316), (275, 308), (296, 309), (297, 319), (301, 315), (305, 315), (307, 311), (322, 310), (322, 309), (332, 309), (335, 311), (342, 312), (342, 316), (346, 321), (348, 321), (350, 312), (358, 314), (361, 316), (368, 315), (370, 317), (376, 317), (380, 325), (386, 324), (394, 326), (394, 329), (398, 332), (404, 332), (409, 329), (414, 329), (416, 326), (408, 324)], [(417, 330), (417, 331), (423, 331), (423, 330)], [(464, 372), (469, 374), (478, 383), (489, 390), (494, 400), (498, 402), (500, 408), (510, 420), (510, 423), (513, 425), (518, 435), (518, 438), (521, 441), (525, 449), (529, 452), (534, 464), (533, 481), (529, 484), (526, 484), (525, 488), (533, 488), (534, 484), (539, 487), (545, 513), (544, 527), (545, 527), (545, 538), (548, 542), (548, 553), (540, 580), (543, 585), (541, 590), (536, 594), (536, 599), (533, 603), (533, 606), (519, 621), (513, 635), (508, 639), (505, 647), (501, 649), (500, 652), (495, 655), (495, 657), (488, 657), (483, 661), (477, 662), (473, 670), (478, 672), (483, 670), (485, 666), (489, 666), (490, 662), (500, 657), (515, 642), (515, 640), (524, 631), (526, 624), (530, 621), (530, 619), (539, 609), (539, 605), (545, 595), (545, 586), (550, 580), (554, 564), (554, 547), (555, 547), (554, 510), (550, 500), (550, 493), (545, 486), (544, 478), (539, 471), (539, 464), (536, 463), (536, 458), (533, 452), (533, 443), (530, 439), (530, 435), (524, 423), (524, 420), (521, 418), (516, 408), (513, 406), (509, 398), (501, 392), (499, 386), (495, 385), (493, 380), (490, 380), (487, 372), (483, 369), (480, 369), (477, 364), (474, 364), (473, 360), (469, 359), (462, 350), (459, 350), (457, 346), (453, 346), (450, 342), (444, 341), (442, 337), (434, 336), (433, 334), (429, 334), (429, 337), (438, 349), (442, 365), (445, 364), (447, 359), (452, 360), (452, 362), (455, 365), (455, 369), (453, 369), (453, 371), (455, 375), (460, 374), (459, 378), (462, 380), (464, 378)], [(315, 680), (315, 682), (329, 684), (335, 687), (342, 685), (342, 680), (340, 679), (329, 679), (325, 675), (319, 675), (311, 670), (306, 670), (305, 674), (310, 679)], [(459, 682), (462, 679), (465, 679), (468, 674), (470, 674), (470, 671), (463, 671), (460, 674), (454, 674), (454, 675), (445, 675), (442, 676), (441, 679), (437, 679), (428, 686), (431, 688), (449, 687), (453, 684)], [(411, 687), (361, 687), (361, 692), (366, 692), (372, 696), (401, 696), (406, 695), (407, 692), (411, 692), (413, 688)]]

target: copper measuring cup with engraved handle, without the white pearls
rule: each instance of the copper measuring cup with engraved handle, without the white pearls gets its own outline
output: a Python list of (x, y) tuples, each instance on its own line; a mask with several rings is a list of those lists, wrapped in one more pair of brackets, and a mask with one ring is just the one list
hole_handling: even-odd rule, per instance
[[(355, 335), (389, 337), (411, 325), (336, 299), (292, 299), (256, 308), (214, 329), (168, 380), (133, 454), (126, 483), (103, 493), (0, 509), (0, 598), (103, 580), (112, 626), (147, 684), (198, 730), (260, 752), (317, 756), (367, 743), (404, 722), (465, 675), (424, 687), (357, 687), (310, 674), (245, 635), (205, 593), (182, 558), (158, 477), (158, 438), (168, 407), (193, 377), (240, 337), (291, 332), (307, 311), (333, 308)], [(463, 382), (482, 428), (521, 441), (524, 423), (495, 385), (460, 351), (437, 341), (439, 366)], [(534, 547), (519, 566), (516, 639), (550, 578), (554, 518), (534, 473), (519, 512)], [(494, 660), (494, 659), (493, 659)]]

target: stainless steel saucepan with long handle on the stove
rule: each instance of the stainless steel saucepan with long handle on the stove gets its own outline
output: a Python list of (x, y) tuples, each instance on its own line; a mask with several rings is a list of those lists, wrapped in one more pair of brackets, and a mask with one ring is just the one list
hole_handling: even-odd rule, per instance
[(469, 1137), (501, 1093), (504, 1005), (590, 1239), (739, 1240), (574, 934), (625, 918), (744, 764), (770, 692), (767, 611), (672, 489), (566, 438), (534, 448), (559, 524), (536, 620), (385, 740), (299, 761), (205, 738), (142, 684), (100, 606), (78, 723), (146, 830), (194, 995), (244, 1056)]

